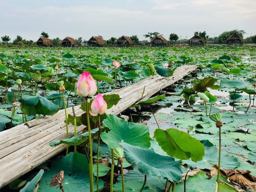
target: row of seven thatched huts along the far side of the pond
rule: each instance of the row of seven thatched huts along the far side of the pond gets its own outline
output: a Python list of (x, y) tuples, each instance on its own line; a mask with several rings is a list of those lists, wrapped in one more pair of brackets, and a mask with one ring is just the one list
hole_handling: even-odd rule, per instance
[[(234, 41), (238, 40), (240, 44), (244, 43), (244, 39), (239, 36), (236, 32), (228, 37), (226, 40), (227, 44), (232, 44)], [(150, 42), (153, 46), (164, 46), (168, 45), (169, 42), (161, 35), (157, 35), (154, 38), (152, 38)], [(46, 37), (40, 37), (36, 44), (38, 46), (52, 46), (52, 41), (49, 38)], [(62, 41), (60, 41), (61, 46), (63, 47), (74, 47), (76, 45), (76, 40), (72, 37), (65, 37)], [(89, 46), (103, 46), (106, 44), (106, 42), (102, 39), (101, 36), (92, 36), (87, 44)], [(116, 42), (116, 45), (133, 45), (133, 41), (128, 36), (121, 36), (119, 37)], [(194, 35), (192, 38), (188, 40), (189, 45), (205, 45), (204, 38), (200, 37), (199, 35)]]

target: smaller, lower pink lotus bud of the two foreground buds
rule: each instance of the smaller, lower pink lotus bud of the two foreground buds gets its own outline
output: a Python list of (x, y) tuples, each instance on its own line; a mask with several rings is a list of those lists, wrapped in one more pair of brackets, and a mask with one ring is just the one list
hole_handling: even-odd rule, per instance
[(89, 111), (89, 113), (92, 116), (102, 115), (106, 112), (108, 106), (100, 93), (98, 93), (98, 95), (92, 101), (91, 108), (92, 108), (92, 111)]

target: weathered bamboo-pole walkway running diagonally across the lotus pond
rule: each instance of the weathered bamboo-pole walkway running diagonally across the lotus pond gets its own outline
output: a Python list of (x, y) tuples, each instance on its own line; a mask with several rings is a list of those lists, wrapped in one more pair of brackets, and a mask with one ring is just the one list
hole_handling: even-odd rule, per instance
[[(135, 84), (123, 87), (106, 94), (119, 94), (121, 100), (117, 105), (106, 111), (107, 114), (119, 115), (125, 109), (143, 98), (150, 98), (156, 92), (181, 80), (196, 69), (195, 65), (184, 65), (177, 68), (173, 76), (165, 78), (159, 75), (150, 76)], [(67, 112), (72, 114), (72, 108)], [(84, 113), (79, 106), (75, 107), (76, 116)], [(66, 148), (61, 144), (55, 147), (50, 142), (66, 138), (65, 111), (60, 110), (53, 116), (43, 116), (25, 124), (0, 132), (0, 188), (36, 168), (46, 160), (60, 153)], [(82, 133), (84, 125), (77, 127)], [(74, 136), (74, 126), (68, 125), (69, 137)]]

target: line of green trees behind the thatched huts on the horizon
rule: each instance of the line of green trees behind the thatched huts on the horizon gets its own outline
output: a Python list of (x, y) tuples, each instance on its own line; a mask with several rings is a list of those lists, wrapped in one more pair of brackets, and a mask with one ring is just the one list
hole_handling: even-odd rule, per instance
[[(225, 31), (216, 37), (209, 37), (209, 35), (207, 35), (206, 31), (203, 31), (203, 32), (195, 31), (194, 35), (199, 35), (200, 37), (204, 38), (206, 43), (208, 42), (208, 43), (215, 43), (215, 44), (225, 44), (226, 39), (229, 36), (231, 36), (234, 32), (236, 32), (241, 37), (244, 37), (245, 31), (238, 30), (238, 29), (234, 29), (231, 31)], [(146, 39), (149, 38), (149, 41), (146, 39), (143, 41), (140, 41), (137, 35), (130, 36), (130, 38), (132, 39), (132, 41), (135, 45), (150, 44), (152, 38), (154, 38), (156, 35), (162, 35), (162, 34), (160, 34), (159, 32), (148, 32), (147, 34), (143, 35)], [(41, 33), (41, 37), (49, 38), (49, 35), (48, 35), (48, 33), (43, 31)], [(5, 46), (7, 46), (7, 43), (11, 40), (10, 37), (7, 35), (2, 36), (1, 39), (4, 42)], [(170, 44), (175, 44), (179, 40), (179, 36), (175, 33), (171, 33), (168, 40), (169, 40)], [(182, 39), (182, 41), (187, 41), (187, 40), (188, 39)], [(53, 46), (60, 46), (61, 40), (59, 37), (53, 38), (53, 39), (51, 39), (51, 41), (52, 41)], [(114, 45), (115, 42), (116, 42), (116, 37), (111, 37), (110, 39), (106, 40), (107, 45)], [(87, 43), (87, 41), (82, 41), (82, 37), (79, 37), (78, 39), (76, 39), (76, 43), (77, 43), (77, 45), (82, 45), (82, 43)], [(247, 37), (245, 39), (245, 43), (256, 43), (256, 35)], [(36, 45), (36, 43), (33, 40), (23, 39), (19, 35), (17, 35), (17, 37), (13, 40), (13, 44), (14, 45), (24, 45), (24, 44)]]

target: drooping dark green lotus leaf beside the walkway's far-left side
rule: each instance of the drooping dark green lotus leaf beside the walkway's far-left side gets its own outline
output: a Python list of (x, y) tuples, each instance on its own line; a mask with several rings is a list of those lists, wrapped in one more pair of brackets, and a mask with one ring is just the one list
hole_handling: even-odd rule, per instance
[(54, 115), (60, 109), (57, 105), (40, 95), (23, 98), (23, 105), (26, 115), (34, 115), (35, 112), (41, 115)]

